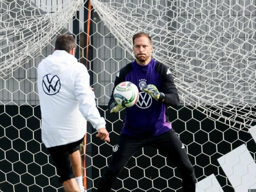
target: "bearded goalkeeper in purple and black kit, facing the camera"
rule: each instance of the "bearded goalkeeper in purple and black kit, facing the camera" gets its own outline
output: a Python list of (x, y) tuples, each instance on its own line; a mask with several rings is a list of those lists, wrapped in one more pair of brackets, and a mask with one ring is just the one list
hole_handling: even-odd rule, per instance
[[(135, 106), (126, 108), (123, 129), (101, 177), (98, 192), (109, 192), (132, 155), (145, 146), (157, 148), (179, 169), (184, 192), (195, 192), (193, 166), (168, 121), (167, 106), (177, 107), (180, 102), (173, 76), (164, 64), (151, 58), (150, 36), (137, 33), (132, 37), (132, 43), (135, 60), (118, 72), (114, 87), (120, 82), (130, 81), (140, 89), (140, 98)], [(108, 107), (110, 113), (117, 113), (124, 107), (116, 104), (113, 91)]]

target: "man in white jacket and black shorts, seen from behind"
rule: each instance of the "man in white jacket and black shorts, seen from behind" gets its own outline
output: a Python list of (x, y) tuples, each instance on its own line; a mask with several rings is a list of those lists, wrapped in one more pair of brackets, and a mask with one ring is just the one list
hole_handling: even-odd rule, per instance
[(37, 69), (42, 114), (42, 141), (53, 158), (66, 192), (84, 192), (79, 146), (86, 133), (86, 120), (109, 142), (106, 122), (96, 108), (86, 67), (75, 58), (76, 40), (60, 35), (52, 55)]

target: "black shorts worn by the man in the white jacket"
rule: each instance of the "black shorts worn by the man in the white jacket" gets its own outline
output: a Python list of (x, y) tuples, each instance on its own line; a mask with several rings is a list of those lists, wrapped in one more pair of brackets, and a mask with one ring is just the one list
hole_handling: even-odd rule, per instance
[(75, 178), (69, 155), (79, 150), (80, 143), (83, 140), (84, 140), (84, 137), (73, 143), (68, 143), (66, 145), (47, 148), (47, 150), (49, 151), (53, 159), (57, 172), (60, 176), (59, 178), (60, 183), (63, 183), (66, 180)]

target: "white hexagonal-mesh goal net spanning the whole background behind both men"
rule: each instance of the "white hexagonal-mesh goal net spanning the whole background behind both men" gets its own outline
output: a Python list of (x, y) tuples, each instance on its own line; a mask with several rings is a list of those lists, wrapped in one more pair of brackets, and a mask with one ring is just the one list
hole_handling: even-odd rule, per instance
[[(0, 0), (0, 191), (63, 191), (41, 141), (36, 90), (36, 68), (63, 33), (76, 37), (110, 132), (103, 143), (87, 127), (84, 183), (96, 191), (124, 116), (110, 115), (107, 103), (142, 31), (175, 77), (180, 105), (169, 108), (170, 120), (195, 168), (196, 192), (256, 191), (255, 0)], [(143, 148), (113, 191), (181, 192), (180, 174)]]

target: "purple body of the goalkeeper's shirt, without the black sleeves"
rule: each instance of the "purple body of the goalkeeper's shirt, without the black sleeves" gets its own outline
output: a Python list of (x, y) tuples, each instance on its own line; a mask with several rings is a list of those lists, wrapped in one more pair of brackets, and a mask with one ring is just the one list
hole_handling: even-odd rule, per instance
[(146, 66), (139, 65), (136, 60), (132, 62), (132, 71), (125, 76), (125, 81), (137, 85), (140, 97), (136, 105), (126, 108), (123, 130), (121, 134), (135, 137), (149, 137), (160, 135), (172, 128), (166, 122), (165, 105), (140, 91), (140, 87), (153, 84), (161, 92), (162, 79), (156, 72), (156, 60)]

